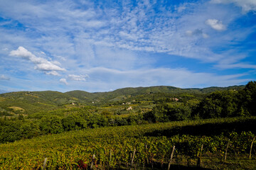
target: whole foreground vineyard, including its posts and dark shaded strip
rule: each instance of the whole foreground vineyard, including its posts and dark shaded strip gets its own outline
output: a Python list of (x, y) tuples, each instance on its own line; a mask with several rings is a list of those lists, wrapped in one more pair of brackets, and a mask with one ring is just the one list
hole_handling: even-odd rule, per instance
[(0, 169), (255, 169), (255, 123), (222, 118), (45, 135), (0, 145)]

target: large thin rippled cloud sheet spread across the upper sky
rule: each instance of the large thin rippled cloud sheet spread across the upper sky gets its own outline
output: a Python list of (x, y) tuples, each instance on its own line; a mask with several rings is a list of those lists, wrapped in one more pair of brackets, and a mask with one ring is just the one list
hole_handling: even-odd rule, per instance
[[(21, 6), (28, 4), (26, 1), (19, 3)], [(209, 19), (211, 13), (207, 12), (208, 2), (179, 4), (180, 7), (183, 6), (183, 10), (177, 6), (174, 6), (176, 10), (172, 6), (163, 6), (157, 12), (154, 11), (154, 7), (159, 8), (159, 4), (154, 3), (138, 3), (135, 7), (127, 3), (123, 8), (119, 6), (111, 8), (114, 5), (107, 8), (106, 5), (102, 9), (90, 7), (86, 10), (81, 10), (78, 5), (73, 2), (57, 1), (51, 7), (55, 10), (49, 11), (47, 3), (34, 3), (26, 6), (26, 11), (18, 8), (21, 10), (19, 13), (24, 13), (24, 15), (26, 13), (30, 16), (29, 19), (24, 15), (16, 16), (18, 13), (11, 14), (28, 26), (32, 25), (37, 31), (47, 32), (49, 36), (43, 36), (38, 41), (50, 53), (62, 55), (64, 52), (68, 56), (77, 55), (78, 58), (84, 56), (78, 56), (78, 52), (85, 47), (80, 45), (80, 42), (89, 42), (92, 49), (98, 45), (105, 45), (133, 51), (166, 52), (171, 55), (211, 62), (211, 56), (216, 56), (212, 48), (221, 45), (222, 42), (204, 43), (201, 38), (211, 37), (210, 40), (213, 40), (214, 37), (214, 35), (211, 36), (210, 30), (204, 23), (206, 21), (208, 26), (215, 30), (226, 28), (221, 21)], [(93, 3), (90, 5), (93, 6)], [(30, 10), (32, 8), (38, 8), (38, 11), (35, 13)], [(214, 8), (215, 13), (223, 13), (223, 15), (230, 13), (230, 11), (223, 12), (223, 9), (214, 6), (211, 8)], [(54, 21), (50, 16), (55, 16)], [(233, 16), (230, 15), (230, 17)], [(59, 24), (56, 25), (55, 21)], [(95, 28), (91, 29), (94, 26)], [(193, 36), (193, 38), (184, 36), (200, 35), (198, 34), (200, 32), (201, 36)], [(73, 43), (74, 40), (75, 43)], [(193, 51), (197, 51), (196, 55)], [(212, 55), (209, 56), (209, 54)]]

